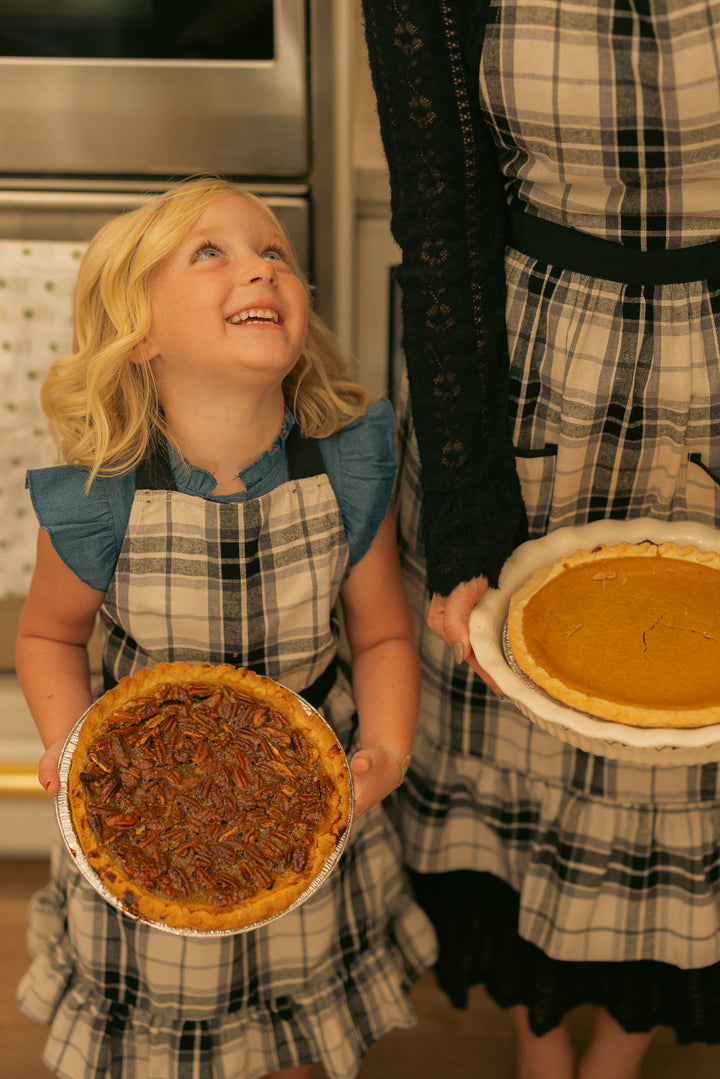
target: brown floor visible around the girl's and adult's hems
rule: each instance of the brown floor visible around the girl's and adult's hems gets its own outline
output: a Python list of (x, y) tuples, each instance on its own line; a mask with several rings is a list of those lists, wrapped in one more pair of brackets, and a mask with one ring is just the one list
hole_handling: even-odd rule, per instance
[[(44, 1028), (17, 1011), (15, 986), (26, 964), (24, 926), (30, 894), (46, 878), (42, 861), (0, 861), (0, 1076), (50, 1079), (41, 1063)], [(437, 991), (432, 974), (415, 991), (418, 1026), (398, 1030), (373, 1046), (358, 1079), (514, 1079), (510, 1021), (475, 989), (467, 1011), (454, 1011)], [(587, 1037), (592, 1011), (572, 1016), (579, 1046)], [(660, 1030), (646, 1058), (643, 1079), (718, 1079), (720, 1047), (675, 1044)], [(236, 1079), (243, 1079), (237, 1076)]]

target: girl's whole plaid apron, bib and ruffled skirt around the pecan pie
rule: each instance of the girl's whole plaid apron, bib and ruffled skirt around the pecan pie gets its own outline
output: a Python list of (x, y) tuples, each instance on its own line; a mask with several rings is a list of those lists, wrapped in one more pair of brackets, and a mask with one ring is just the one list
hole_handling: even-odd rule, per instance
[[(335, 656), (329, 618), (347, 564), (324, 474), (240, 503), (138, 489), (103, 611), (107, 667), (120, 678), (161, 657), (230, 659), (300, 691)], [(324, 714), (351, 751), (341, 672)], [(409, 986), (435, 948), (381, 807), (352, 828), (303, 906), (230, 937), (120, 914), (58, 843), (29, 943), (18, 1002), (52, 1024), (44, 1061), (64, 1079), (257, 1079), (311, 1062), (350, 1079), (370, 1043), (413, 1025)]]

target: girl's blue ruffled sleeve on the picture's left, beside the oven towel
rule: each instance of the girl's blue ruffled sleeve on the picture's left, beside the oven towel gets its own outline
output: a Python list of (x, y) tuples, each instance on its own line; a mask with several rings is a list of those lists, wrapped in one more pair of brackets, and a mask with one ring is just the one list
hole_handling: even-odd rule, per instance
[(87, 473), (71, 465), (33, 468), (26, 487), (40, 527), (84, 584), (107, 591), (114, 573), (134, 495), (134, 475), (99, 477), (90, 491)]

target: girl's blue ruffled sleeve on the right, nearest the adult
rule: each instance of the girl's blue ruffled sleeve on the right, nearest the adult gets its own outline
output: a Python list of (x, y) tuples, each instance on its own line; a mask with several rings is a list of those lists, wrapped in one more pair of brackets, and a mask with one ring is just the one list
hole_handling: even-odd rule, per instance
[(350, 564), (366, 554), (380, 528), (395, 484), (395, 420), (386, 398), (375, 401), (349, 427), (318, 440), (340, 506)]

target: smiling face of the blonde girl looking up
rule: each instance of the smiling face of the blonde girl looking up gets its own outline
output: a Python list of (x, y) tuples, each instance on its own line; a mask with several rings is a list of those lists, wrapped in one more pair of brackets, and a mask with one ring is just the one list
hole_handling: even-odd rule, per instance
[(308, 334), (308, 295), (287, 242), (242, 195), (208, 206), (160, 263), (150, 306), (146, 349), (161, 388), (164, 375), (282, 384)]

